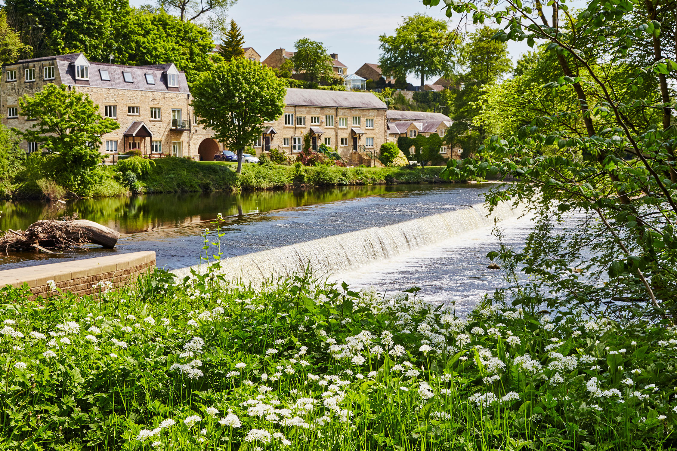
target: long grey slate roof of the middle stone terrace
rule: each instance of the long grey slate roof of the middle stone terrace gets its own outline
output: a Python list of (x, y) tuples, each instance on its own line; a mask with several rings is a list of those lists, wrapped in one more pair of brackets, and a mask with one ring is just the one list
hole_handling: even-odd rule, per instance
[(372, 93), (326, 91), (324, 89), (287, 88), (287, 105), (387, 110), (387, 105)]

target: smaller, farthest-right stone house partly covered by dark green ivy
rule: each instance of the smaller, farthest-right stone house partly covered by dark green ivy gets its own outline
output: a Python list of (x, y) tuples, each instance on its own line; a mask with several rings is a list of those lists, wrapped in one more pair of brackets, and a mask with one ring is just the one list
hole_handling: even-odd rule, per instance
[[(437, 134), (443, 138), (453, 121), (441, 113), (418, 111), (388, 110), (388, 141), (397, 143), (399, 137), (416, 138), (418, 135), (429, 137)], [(402, 149), (404, 150), (404, 149)], [(413, 151), (413, 147), (410, 149)], [(460, 158), (461, 149), (443, 145), (439, 148), (443, 158)]]

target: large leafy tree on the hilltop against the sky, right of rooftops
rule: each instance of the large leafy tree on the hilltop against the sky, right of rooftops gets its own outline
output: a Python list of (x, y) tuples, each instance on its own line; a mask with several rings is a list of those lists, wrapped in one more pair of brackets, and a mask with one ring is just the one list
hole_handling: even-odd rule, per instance
[(378, 65), (384, 75), (416, 74), (421, 86), (431, 76), (443, 75), (453, 68), (452, 51), (456, 34), (447, 31), (447, 23), (424, 14), (406, 18), (394, 36), (381, 34)]

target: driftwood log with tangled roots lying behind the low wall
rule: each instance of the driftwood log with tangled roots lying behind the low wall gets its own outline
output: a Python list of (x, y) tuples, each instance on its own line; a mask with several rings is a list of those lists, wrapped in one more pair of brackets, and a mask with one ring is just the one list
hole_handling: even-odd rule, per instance
[[(87, 243), (112, 249), (120, 233), (86, 219), (39, 220), (25, 231), (8, 231), (0, 237), (0, 249), (5, 252), (41, 250), (72, 250)], [(51, 249), (51, 250), (50, 250)]]

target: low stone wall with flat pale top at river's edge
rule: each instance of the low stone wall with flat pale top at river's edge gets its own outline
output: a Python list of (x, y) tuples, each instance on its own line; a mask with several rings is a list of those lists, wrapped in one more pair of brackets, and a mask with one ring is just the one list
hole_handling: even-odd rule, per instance
[(0, 287), (28, 283), (34, 298), (47, 297), (52, 292), (47, 281), (54, 281), (64, 293), (83, 296), (98, 293), (100, 288), (93, 285), (100, 282), (110, 282), (113, 287), (135, 283), (139, 275), (153, 268), (155, 252), (131, 252), (0, 271)]

